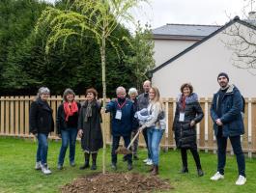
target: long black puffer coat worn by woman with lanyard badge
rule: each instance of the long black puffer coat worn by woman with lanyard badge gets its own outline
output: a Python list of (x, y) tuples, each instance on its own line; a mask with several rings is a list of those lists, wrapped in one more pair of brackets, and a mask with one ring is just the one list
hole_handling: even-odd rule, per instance
[[(178, 99), (173, 122), (173, 130), (175, 131), (175, 141), (177, 148), (196, 148), (196, 126), (203, 117), (203, 110), (198, 102), (196, 94), (191, 94), (185, 99), (185, 110), (181, 108), (181, 97)], [(180, 122), (180, 113), (185, 113), (184, 122)], [(195, 124), (190, 126), (190, 122)]]

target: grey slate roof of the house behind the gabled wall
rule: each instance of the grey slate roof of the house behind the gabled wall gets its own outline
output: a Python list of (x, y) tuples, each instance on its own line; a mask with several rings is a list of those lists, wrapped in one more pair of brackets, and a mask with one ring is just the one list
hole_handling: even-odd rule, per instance
[(191, 24), (173, 24), (167, 23), (161, 27), (153, 30), (155, 39), (168, 39), (168, 38), (197, 38), (203, 39), (204, 37), (212, 34), (219, 29), (218, 25), (191, 25)]

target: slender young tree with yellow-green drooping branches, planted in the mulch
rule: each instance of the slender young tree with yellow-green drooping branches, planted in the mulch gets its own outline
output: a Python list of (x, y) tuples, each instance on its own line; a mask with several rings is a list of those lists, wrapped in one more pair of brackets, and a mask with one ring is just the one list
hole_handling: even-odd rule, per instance
[[(36, 26), (36, 32), (39, 32), (41, 26), (48, 25), (49, 27), (45, 45), (46, 52), (49, 52), (50, 48), (54, 47), (58, 41), (62, 41), (65, 48), (67, 40), (72, 36), (82, 39), (86, 31), (91, 32), (91, 36), (88, 38), (96, 39), (100, 48), (103, 106), (105, 106), (106, 99), (106, 42), (115, 47), (117, 53), (119, 53), (118, 51), (122, 52), (122, 48), (117, 43), (120, 40), (113, 36), (113, 31), (123, 21), (132, 22), (133, 17), (129, 13), (130, 9), (144, 1), (146, 0), (71, 0), (68, 1), (67, 9), (64, 11), (47, 8)], [(103, 138), (105, 137), (104, 128)], [(104, 174), (105, 139), (103, 141), (102, 172)]]

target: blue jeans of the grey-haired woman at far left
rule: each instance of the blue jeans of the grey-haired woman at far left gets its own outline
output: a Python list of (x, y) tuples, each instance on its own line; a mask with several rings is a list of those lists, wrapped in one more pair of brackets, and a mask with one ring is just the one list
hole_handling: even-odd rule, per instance
[(47, 164), (47, 153), (48, 153), (48, 134), (38, 133), (38, 151), (37, 151), (37, 162), (41, 161), (43, 165)]

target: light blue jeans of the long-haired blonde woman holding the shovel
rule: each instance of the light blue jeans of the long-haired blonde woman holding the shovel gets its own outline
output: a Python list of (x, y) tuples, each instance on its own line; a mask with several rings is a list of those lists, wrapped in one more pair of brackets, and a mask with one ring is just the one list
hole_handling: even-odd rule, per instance
[(159, 163), (159, 144), (164, 130), (150, 127), (147, 129), (149, 152), (154, 165)]

